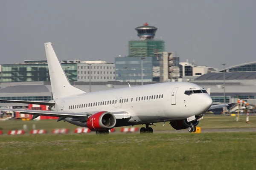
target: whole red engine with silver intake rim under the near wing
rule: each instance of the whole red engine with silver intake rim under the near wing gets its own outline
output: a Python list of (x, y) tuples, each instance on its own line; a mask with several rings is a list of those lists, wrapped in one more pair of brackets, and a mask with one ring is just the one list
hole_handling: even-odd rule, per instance
[(87, 119), (87, 127), (91, 131), (109, 130), (115, 127), (116, 117), (110, 112), (98, 112)]

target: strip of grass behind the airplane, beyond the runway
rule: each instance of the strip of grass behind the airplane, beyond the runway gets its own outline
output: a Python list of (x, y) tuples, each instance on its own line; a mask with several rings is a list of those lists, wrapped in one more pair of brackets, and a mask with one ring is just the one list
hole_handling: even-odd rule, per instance
[[(225, 129), (225, 128), (255, 128), (256, 127), (256, 116), (250, 116), (250, 124), (245, 123), (246, 116), (240, 116), (240, 121), (236, 122), (235, 116), (204, 116), (204, 119), (200, 121), (199, 125), (202, 129)], [(56, 122), (56, 120), (40, 120), (40, 121), (21, 121), (21, 120), (10, 120), (0, 121), (0, 130), (3, 133), (8, 133), (9, 130), (23, 129), (23, 125), (26, 124), (28, 132), (32, 129), (32, 125), (36, 125), (36, 129), (46, 129), (51, 132), (55, 128), (68, 128), (72, 132), (77, 127), (67, 122)], [(156, 123), (153, 129), (156, 130), (175, 130), (166, 122), (165, 126), (163, 123)], [(145, 125), (137, 125), (135, 127), (143, 127)], [(116, 131), (120, 131), (121, 127), (116, 127)]]

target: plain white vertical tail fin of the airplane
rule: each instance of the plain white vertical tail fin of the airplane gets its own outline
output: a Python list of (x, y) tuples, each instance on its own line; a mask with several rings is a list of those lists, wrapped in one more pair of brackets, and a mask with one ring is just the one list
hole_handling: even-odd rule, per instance
[(51, 80), (53, 99), (85, 93), (84, 91), (70, 85), (61, 63), (52, 48), (52, 43), (47, 42), (44, 44), (44, 47)]

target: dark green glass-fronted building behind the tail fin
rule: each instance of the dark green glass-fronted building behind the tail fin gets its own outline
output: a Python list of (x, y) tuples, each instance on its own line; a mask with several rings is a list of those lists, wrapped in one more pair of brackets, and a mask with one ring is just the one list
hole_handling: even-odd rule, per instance
[[(77, 81), (77, 64), (62, 64), (70, 81)], [(1, 65), (0, 82), (50, 81), (47, 64)]]

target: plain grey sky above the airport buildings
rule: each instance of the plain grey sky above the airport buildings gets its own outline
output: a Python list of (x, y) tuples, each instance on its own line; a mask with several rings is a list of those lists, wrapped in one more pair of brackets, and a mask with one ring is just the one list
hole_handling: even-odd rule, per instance
[(0, 0), (0, 64), (46, 59), (114, 62), (148, 22), (181, 61), (221, 68), (256, 61), (256, 0)]

